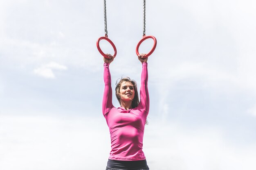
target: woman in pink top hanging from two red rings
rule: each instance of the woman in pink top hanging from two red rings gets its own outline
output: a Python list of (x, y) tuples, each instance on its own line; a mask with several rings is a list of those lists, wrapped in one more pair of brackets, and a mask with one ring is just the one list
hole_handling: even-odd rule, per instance
[(111, 151), (106, 170), (149, 170), (142, 151), (144, 126), (149, 111), (148, 70), (145, 54), (138, 56), (142, 63), (140, 102), (135, 81), (122, 78), (116, 87), (120, 107), (112, 105), (112, 87), (109, 65), (115, 57), (104, 60), (102, 112), (110, 131)]

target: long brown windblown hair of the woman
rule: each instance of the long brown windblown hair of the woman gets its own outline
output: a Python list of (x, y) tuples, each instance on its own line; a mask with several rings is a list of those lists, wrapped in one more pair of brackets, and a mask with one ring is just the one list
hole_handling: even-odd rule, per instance
[[(120, 95), (120, 88), (121, 88), (121, 84), (126, 81), (126, 82), (130, 82), (133, 85), (134, 88), (134, 98), (132, 99), (132, 108), (135, 108), (139, 105), (139, 95), (138, 95), (138, 89), (137, 89), (137, 83), (134, 80), (131, 80), (129, 77), (124, 77), (121, 79), (118, 79), (119, 82), (116, 83), (116, 96), (117, 96), (117, 100), (119, 102), (119, 104), (121, 105), (121, 95)], [(117, 80), (117, 81), (118, 81)]]

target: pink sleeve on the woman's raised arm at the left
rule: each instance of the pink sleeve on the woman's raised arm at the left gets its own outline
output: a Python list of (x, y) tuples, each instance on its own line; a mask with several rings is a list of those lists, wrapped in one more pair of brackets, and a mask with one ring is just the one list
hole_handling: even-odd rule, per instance
[(105, 88), (104, 88), (103, 100), (102, 100), (102, 113), (103, 113), (103, 115), (105, 115), (113, 107), (111, 75), (110, 75), (110, 71), (109, 71), (109, 63), (104, 63), (103, 78), (104, 78)]

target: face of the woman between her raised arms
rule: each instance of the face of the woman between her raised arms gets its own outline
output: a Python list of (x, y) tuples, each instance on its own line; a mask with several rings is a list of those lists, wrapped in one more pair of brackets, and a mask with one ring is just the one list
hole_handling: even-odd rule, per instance
[(120, 87), (121, 100), (132, 100), (134, 98), (134, 87), (131, 82), (124, 81)]

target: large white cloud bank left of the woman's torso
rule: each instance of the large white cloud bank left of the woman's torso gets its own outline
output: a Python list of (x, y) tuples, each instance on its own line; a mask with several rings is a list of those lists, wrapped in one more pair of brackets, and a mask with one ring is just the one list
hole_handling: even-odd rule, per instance
[(1, 170), (106, 167), (110, 140), (103, 117), (0, 116), (0, 132)]

